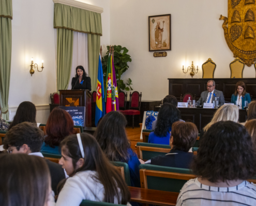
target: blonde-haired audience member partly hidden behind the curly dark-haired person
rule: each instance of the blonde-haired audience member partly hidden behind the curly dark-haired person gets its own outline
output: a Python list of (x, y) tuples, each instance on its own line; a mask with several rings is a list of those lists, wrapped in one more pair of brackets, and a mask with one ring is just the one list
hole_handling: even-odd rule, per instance
[(199, 145), (204, 139), (204, 133), (212, 126), (213, 124), (220, 121), (232, 121), (237, 123), (239, 118), (239, 109), (236, 105), (222, 105), (218, 110), (216, 110), (212, 121), (208, 123), (200, 132)]

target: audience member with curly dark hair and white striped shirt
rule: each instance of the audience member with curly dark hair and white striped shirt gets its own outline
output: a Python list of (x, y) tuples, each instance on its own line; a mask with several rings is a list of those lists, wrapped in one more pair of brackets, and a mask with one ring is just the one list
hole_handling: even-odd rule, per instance
[(198, 178), (183, 186), (179, 205), (256, 205), (256, 155), (246, 128), (217, 122), (204, 134), (191, 168)]

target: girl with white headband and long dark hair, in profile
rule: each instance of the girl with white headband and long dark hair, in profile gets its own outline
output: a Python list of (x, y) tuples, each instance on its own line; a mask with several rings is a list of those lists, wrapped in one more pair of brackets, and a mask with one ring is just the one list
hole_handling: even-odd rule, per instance
[(96, 139), (88, 133), (73, 134), (61, 143), (59, 164), (68, 178), (58, 195), (56, 206), (79, 206), (83, 199), (129, 204), (130, 192)]

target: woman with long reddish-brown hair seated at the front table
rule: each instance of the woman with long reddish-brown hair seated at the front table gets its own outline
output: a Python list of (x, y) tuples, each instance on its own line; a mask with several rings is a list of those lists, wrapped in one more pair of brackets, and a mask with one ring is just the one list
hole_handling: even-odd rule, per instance
[(231, 97), (231, 103), (238, 105), (239, 109), (244, 109), (245, 101), (247, 101), (248, 104), (251, 102), (250, 94), (245, 91), (245, 83), (238, 81), (235, 85), (235, 93), (232, 94)]

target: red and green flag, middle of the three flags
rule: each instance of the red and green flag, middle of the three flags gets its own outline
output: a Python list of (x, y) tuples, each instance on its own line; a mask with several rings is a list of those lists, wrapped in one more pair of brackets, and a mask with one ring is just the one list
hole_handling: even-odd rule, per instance
[(112, 74), (112, 71), (111, 71), (111, 55), (109, 54), (109, 59), (108, 59), (108, 66), (107, 66), (107, 79), (106, 79), (106, 89), (105, 89), (105, 101), (107, 102), (107, 105), (106, 105), (106, 112), (109, 113), (112, 111), (112, 102), (111, 102), (111, 93), (112, 93), (112, 81), (111, 81), (111, 74)]

